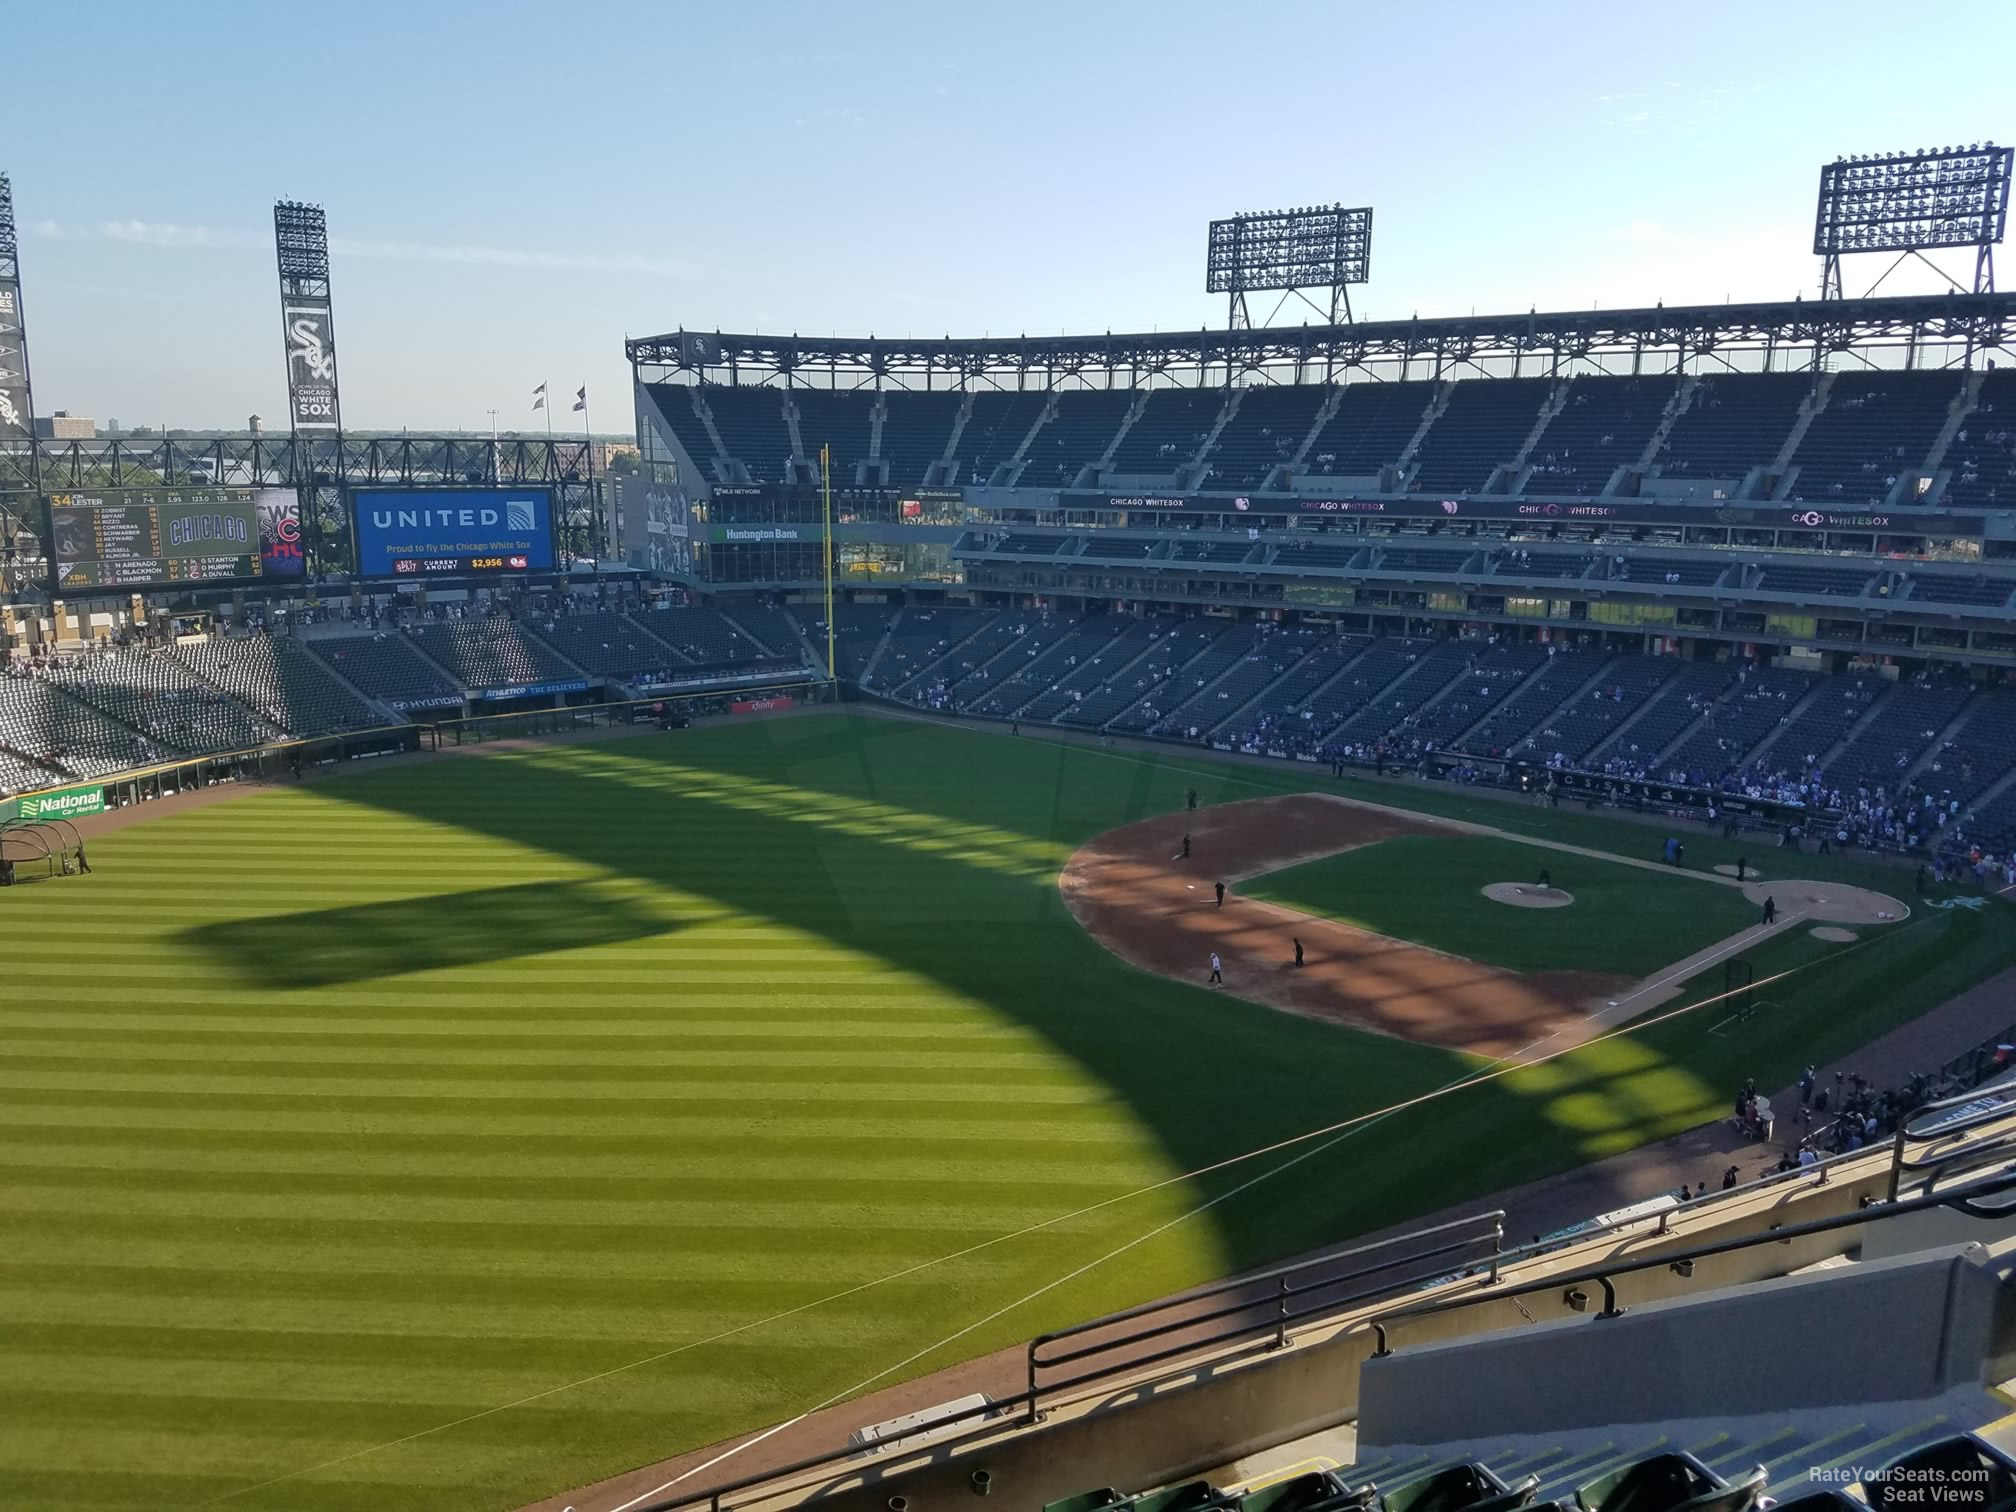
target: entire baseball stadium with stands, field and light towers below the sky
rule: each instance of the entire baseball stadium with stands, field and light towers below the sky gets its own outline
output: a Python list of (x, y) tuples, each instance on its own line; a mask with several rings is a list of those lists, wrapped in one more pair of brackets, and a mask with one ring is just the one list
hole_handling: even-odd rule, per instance
[(274, 206), (284, 437), (0, 442), (0, 1506), (2016, 1504), (2016, 294), (1841, 292), (2010, 159), (619, 450), (347, 435)]

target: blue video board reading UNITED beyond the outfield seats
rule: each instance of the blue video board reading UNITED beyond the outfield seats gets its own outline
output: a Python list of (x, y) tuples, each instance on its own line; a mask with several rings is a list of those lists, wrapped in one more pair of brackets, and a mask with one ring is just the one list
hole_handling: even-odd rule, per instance
[(351, 522), (361, 577), (552, 571), (546, 488), (359, 488)]

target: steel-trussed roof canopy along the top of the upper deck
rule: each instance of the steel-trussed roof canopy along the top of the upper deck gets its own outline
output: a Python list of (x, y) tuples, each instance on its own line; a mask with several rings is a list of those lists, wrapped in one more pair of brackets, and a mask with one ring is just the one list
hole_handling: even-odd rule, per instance
[(1343, 377), (1349, 369), (1401, 369), (1407, 377), (1540, 377), (1558, 369), (1962, 367), (1994, 349), (2016, 349), (2016, 292), (1095, 337), (764, 337), (681, 329), (625, 343), (645, 381), (689, 375), (706, 383), (915, 389), (1127, 387), (1242, 377), (1308, 383)]

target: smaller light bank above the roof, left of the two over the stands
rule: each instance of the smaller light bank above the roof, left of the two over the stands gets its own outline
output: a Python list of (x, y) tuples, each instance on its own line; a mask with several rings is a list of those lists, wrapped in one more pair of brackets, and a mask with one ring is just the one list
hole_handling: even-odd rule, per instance
[[(1312, 206), (1268, 210), (1212, 222), (1204, 264), (1204, 290), (1226, 296), (1226, 329), (1252, 329), (1248, 294), (1280, 292), (1266, 323), (1272, 325), (1290, 296), (1300, 298), (1331, 325), (1351, 323), (1351, 284), (1363, 284), (1373, 260), (1371, 206)], [(1329, 290), (1329, 306), (1308, 290)]]

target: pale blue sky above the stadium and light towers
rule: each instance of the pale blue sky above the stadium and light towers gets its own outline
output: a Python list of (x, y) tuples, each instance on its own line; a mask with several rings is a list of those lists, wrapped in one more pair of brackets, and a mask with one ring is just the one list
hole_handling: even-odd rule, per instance
[(550, 379), (607, 431), (623, 337), (679, 325), (1218, 325), (1238, 210), (1375, 206), (1375, 319), (1810, 294), (1822, 161), (2016, 141), (2006, 0), (89, 10), (10, 20), (0, 171), (36, 407), (125, 425), (284, 413), (282, 196), (329, 212), (347, 423), (534, 427)]

